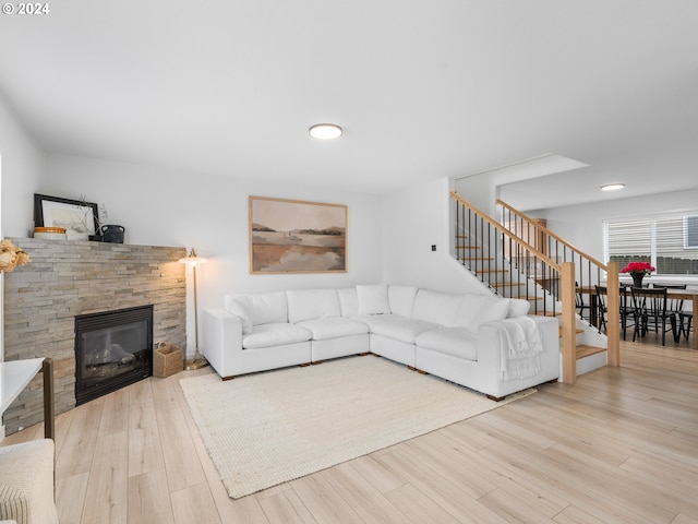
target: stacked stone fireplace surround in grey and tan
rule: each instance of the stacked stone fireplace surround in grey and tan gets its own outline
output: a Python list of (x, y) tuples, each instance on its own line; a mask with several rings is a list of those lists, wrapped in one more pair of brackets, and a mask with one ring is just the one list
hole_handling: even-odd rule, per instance
[[(50, 357), (56, 413), (75, 406), (75, 317), (153, 305), (153, 340), (185, 348), (184, 248), (13, 238), (32, 262), (4, 275), (4, 360)], [(44, 419), (40, 373), (8, 408), (12, 433)]]

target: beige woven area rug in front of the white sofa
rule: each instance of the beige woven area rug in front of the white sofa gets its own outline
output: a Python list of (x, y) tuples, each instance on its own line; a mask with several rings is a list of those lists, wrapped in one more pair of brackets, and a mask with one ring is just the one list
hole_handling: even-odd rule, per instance
[(494, 402), (373, 356), (221, 381), (180, 380), (233, 499), (397, 444), (533, 393)]

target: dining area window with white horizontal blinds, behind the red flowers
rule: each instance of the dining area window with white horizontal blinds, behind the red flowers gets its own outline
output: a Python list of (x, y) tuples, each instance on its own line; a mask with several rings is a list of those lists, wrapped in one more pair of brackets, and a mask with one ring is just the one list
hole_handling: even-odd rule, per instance
[(621, 269), (645, 261), (658, 275), (698, 275), (698, 211), (607, 219), (603, 225), (605, 260)]

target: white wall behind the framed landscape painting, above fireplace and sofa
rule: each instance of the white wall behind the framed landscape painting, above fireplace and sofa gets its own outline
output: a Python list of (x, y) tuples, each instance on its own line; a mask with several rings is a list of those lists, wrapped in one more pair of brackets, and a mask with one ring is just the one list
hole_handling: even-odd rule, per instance
[[(85, 194), (88, 202), (104, 203), (107, 222), (125, 228), (127, 243), (196, 248), (207, 259), (196, 270), (200, 311), (222, 307), (228, 293), (353, 286), (382, 279), (381, 199), (376, 195), (67, 155), (47, 155), (37, 192), (70, 199)], [(348, 272), (251, 275), (249, 195), (346, 204)], [(190, 305), (188, 318), (192, 317)], [(194, 347), (191, 337), (189, 345)]]

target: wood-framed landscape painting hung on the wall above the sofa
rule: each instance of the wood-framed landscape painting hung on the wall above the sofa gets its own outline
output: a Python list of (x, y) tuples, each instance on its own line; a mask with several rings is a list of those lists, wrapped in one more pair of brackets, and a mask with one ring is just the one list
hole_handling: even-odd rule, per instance
[(346, 205), (250, 196), (250, 273), (346, 272)]

